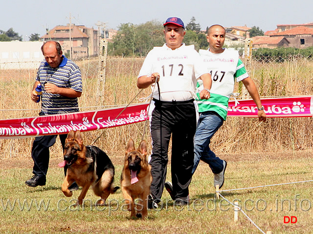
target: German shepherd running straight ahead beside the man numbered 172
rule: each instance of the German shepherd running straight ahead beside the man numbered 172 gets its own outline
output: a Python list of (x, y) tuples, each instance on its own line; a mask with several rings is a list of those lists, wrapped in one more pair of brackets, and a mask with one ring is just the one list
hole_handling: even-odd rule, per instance
[[(147, 217), (148, 195), (152, 182), (151, 165), (147, 160), (147, 144), (143, 140), (135, 150), (134, 141), (129, 140), (125, 153), (124, 168), (121, 175), (121, 189), (131, 211), (131, 217)], [(139, 198), (135, 204), (134, 199)], [(136, 205), (136, 208), (135, 208)]]

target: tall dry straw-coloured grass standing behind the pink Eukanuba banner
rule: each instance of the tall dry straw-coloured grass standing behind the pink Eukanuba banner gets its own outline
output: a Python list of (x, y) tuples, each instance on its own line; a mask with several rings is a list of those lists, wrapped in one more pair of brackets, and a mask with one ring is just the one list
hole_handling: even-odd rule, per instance
[[(136, 76), (140, 70), (142, 58), (108, 59), (106, 65), (106, 85), (104, 103), (111, 106), (128, 104), (138, 93)], [(96, 97), (97, 59), (78, 61), (84, 92), (79, 98), (81, 110), (91, 110), (99, 105)], [(262, 96), (309, 95), (313, 91), (313, 62), (308, 59), (286, 61), (284, 63), (253, 63), (251, 77), (254, 79)], [(10, 109), (34, 109), (39, 104), (30, 100), (36, 72), (28, 69), (0, 70), (0, 118), (18, 118), (37, 116), (39, 110), (7, 111)], [(235, 91), (239, 89), (238, 85)], [(151, 90), (145, 89), (138, 98), (149, 96)], [(89, 107), (89, 108), (85, 108)], [(106, 108), (106, 107), (104, 107)], [(144, 123), (131, 124), (107, 130), (87, 132), (84, 134), (87, 144), (100, 134), (95, 143), (110, 155), (123, 154), (130, 137), (140, 141)], [(268, 118), (266, 123), (259, 124), (256, 118), (228, 117), (217, 132), (211, 144), (218, 154), (250, 152), (284, 152), (311, 149), (312, 118)], [(150, 145), (149, 130), (144, 138)], [(0, 158), (23, 158), (30, 156), (33, 138), (0, 139)], [(60, 144), (52, 147), (51, 157), (61, 157)]]

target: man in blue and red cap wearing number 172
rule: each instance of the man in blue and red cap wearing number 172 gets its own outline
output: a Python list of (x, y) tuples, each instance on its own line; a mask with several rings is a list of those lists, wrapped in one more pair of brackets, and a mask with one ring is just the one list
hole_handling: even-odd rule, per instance
[[(182, 43), (186, 33), (183, 21), (170, 17), (163, 25), (166, 43), (148, 53), (137, 79), (138, 88), (151, 86), (154, 91), (148, 113), (153, 145), (149, 208), (156, 208), (161, 201), (164, 185), (175, 203), (188, 204), (198, 115), (196, 83), (198, 79), (203, 81), (205, 88), (200, 96), (204, 99), (210, 97), (212, 84), (194, 45)], [(158, 88), (154, 88), (156, 82)], [(173, 184), (165, 183), (171, 136)]]

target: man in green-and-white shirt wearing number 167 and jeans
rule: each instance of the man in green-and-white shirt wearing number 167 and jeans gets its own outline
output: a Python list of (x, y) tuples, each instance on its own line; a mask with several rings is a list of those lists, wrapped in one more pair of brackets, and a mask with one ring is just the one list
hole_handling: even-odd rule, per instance
[[(224, 184), (226, 161), (217, 157), (209, 147), (210, 140), (226, 120), (228, 100), (233, 93), (235, 80), (242, 81), (247, 91), (258, 107), (260, 121), (266, 121), (266, 114), (262, 106), (259, 93), (253, 80), (246, 72), (243, 62), (239, 59), (238, 51), (223, 48), (225, 29), (221, 25), (212, 25), (208, 29), (208, 50), (200, 50), (201, 58), (206, 63), (212, 77), (211, 96), (201, 99), (198, 94), (200, 119), (195, 134), (195, 157), (192, 173), (194, 174), (200, 159), (209, 164), (214, 174), (214, 187)], [(199, 90), (203, 87), (198, 81)]]

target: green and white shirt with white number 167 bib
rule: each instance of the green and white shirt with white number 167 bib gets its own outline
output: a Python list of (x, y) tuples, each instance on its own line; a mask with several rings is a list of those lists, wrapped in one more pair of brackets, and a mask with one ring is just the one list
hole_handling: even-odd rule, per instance
[(235, 80), (247, 78), (244, 63), (239, 59), (237, 50), (227, 50), (221, 54), (213, 54), (209, 50), (200, 50), (199, 54), (206, 64), (212, 77), (211, 97), (200, 99), (199, 92), (203, 89), (202, 80), (198, 80), (197, 103), (199, 112), (215, 111), (226, 120), (228, 100), (233, 93)]

